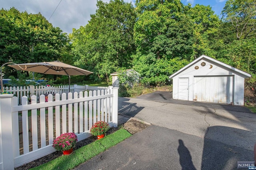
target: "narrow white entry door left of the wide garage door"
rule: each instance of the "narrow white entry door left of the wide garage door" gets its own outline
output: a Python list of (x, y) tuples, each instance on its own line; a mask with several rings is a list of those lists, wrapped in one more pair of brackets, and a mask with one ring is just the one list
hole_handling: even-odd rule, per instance
[(188, 100), (188, 78), (179, 78), (178, 80), (178, 99)]

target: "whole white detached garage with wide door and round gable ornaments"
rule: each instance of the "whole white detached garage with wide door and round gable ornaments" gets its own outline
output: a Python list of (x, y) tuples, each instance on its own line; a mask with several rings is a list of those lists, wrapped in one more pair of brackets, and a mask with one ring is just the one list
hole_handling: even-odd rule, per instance
[(244, 78), (250, 76), (202, 55), (169, 77), (173, 79), (172, 98), (244, 105)]

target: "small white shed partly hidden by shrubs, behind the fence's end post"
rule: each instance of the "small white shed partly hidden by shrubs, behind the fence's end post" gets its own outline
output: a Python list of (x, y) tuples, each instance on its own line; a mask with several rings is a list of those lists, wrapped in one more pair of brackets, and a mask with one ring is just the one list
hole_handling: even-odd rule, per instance
[(128, 81), (129, 81), (128, 84), (131, 87), (134, 85), (134, 83), (138, 83), (140, 81), (140, 73), (136, 72), (133, 69), (127, 69), (123, 73), (113, 72), (110, 74), (110, 76), (112, 76), (113, 87), (119, 87), (118, 75), (120, 74), (126, 74), (126, 77), (128, 78)]

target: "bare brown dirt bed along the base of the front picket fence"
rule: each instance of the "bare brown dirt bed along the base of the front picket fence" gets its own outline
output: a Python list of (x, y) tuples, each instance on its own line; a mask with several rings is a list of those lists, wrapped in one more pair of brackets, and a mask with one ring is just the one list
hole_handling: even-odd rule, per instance
[[(120, 125), (117, 128), (112, 127), (107, 133), (106, 135), (109, 135), (111, 133), (114, 133), (115, 131), (117, 131), (120, 128), (124, 128), (126, 129), (129, 133), (131, 133), (132, 135), (134, 135), (135, 133), (138, 133), (140, 131), (142, 131), (143, 129), (145, 129), (146, 127), (150, 126), (150, 124), (145, 123), (143, 121), (139, 121), (136, 119), (130, 119), (129, 121), (127, 121), (126, 123), (124, 123), (123, 125)], [(85, 145), (88, 145), (94, 141), (97, 140), (97, 137), (89, 137), (87, 139), (84, 139), (82, 141), (79, 141), (78, 143), (76, 143), (76, 147), (74, 148), (74, 150), (83, 147)], [(59, 156), (62, 156), (62, 152), (53, 152), (51, 154), (48, 154), (42, 158), (39, 158), (37, 160), (34, 160), (32, 162), (29, 162), (27, 164), (24, 164), (22, 166), (19, 166), (18, 168), (15, 168), (15, 170), (28, 170), (30, 168), (39, 166), (41, 164), (44, 164), (46, 162), (50, 162), (51, 160), (54, 160), (55, 158), (58, 158)]]

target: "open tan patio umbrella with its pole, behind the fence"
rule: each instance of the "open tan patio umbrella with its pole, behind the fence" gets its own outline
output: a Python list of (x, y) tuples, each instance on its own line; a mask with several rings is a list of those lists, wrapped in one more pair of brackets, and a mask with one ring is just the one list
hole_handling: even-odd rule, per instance
[(41, 62), (41, 63), (23, 63), (23, 64), (9, 64), (8, 66), (13, 67), (17, 70), (39, 72), (42, 74), (57, 74), (67, 75), (69, 77), (69, 91), (70, 91), (70, 76), (75, 75), (89, 75), (93, 72), (72, 66), (69, 64), (62, 63), (60, 61), (52, 62)]

